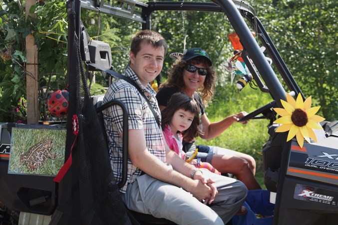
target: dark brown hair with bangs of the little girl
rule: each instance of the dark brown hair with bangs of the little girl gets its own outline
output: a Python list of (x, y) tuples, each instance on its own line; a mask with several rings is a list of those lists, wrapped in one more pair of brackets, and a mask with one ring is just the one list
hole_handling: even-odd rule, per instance
[(164, 130), (166, 124), (170, 124), (174, 113), (179, 110), (183, 109), (184, 111), (191, 112), (194, 114), (194, 119), (190, 125), (190, 127), (182, 132), (183, 139), (187, 142), (193, 142), (196, 137), (201, 134), (200, 129), (200, 108), (197, 102), (190, 98), (188, 95), (184, 93), (175, 93), (171, 96), (167, 107), (165, 107), (162, 112), (162, 130)]

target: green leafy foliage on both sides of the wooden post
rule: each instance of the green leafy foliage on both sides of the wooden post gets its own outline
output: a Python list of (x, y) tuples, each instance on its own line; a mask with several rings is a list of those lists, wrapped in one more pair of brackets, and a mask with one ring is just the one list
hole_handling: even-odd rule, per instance
[[(24, 3), (24, 2), (23, 2)], [(2, 73), (0, 74), (0, 121), (13, 121), (12, 105), (26, 95), (26, 80), (29, 75), (25, 71), (25, 37), (32, 34), (39, 56), (39, 105), (41, 116), (45, 119), (44, 90), (56, 90), (59, 80), (65, 78), (67, 65), (67, 14), (65, 2), (62, 0), (46, 1), (42, 5), (32, 5), (30, 12), (36, 12), (36, 18), (25, 19), (24, 4), (21, 1), (1, 1), (0, 11), (0, 59)], [(5, 57), (2, 57), (5, 55)], [(48, 84), (55, 76), (55, 82)], [(44, 86), (46, 85), (47, 86)], [(53, 84), (54, 86), (51, 86)], [(16, 121), (14, 121), (16, 122)]]

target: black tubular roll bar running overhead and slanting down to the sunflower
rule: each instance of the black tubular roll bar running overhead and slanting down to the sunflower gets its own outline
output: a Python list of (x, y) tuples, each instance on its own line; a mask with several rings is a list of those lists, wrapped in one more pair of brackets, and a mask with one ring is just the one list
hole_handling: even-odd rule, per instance
[[(150, 15), (156, 10), (186, 10), (186, 11), (213, 11), (213, 12), (225, 12), (230, 23), (232, 24), (235, 32), (239, 36), (242, 45), (244, 46), (248, 55), (253, 60), (254, 64), (260, 71), (260, 74), (265, 81), (267, 87), (270, 90), (270, 94), (273, 99), (286, 99), (286, 91), (282, 84), (278, 80), (275, 72), (265, 59), (264, 54), (261, 52), (259, 45), (251, 34), (251, 31), (247, 24), (244, 22), (243, 17), (248, 19), (253, 27), (257, 28), (257, 32), (260, 34), (259, 38), (267, 48), (268, 53), (271, 55), (278, 71), (281, 73), (282, 78), (285, 80), (290, 91), (295, 91), (296, 94), (302, 93), (298, 84), (294, 80), (291, 72), (280, 56), (278, 50), (273, 44), (270, 37), (267, 35), (264, 26), (260, 20), (256, 17), (255, 10), (248, 5), (245, 1), (240, 0), (214, 0), (214, 2), (183, 2), (183, 1), (157, 1), (148, 2), (148, 7), (142, 7), (142, 16), (146, 23), (142, 24), (142, 29), (150, 29), (151, 21)], [(242, 17), (243, 16), (243, 17)], [(249, 35), (250, 34), (250, 35)], [(251, 71), (252, 72), (252, 71)], [(262, 88), (261, 88), (262, 90)], [(266, 89), (263, 88), (262, 91)], [(266, 92), (266, 91), (265, 91)], [(303, 94), (302, 94), (303, 96)], [(303, 96), (304, 97), (304, 96)], [(277, 101), (277, 105), (280, 105), (280, 101)]]

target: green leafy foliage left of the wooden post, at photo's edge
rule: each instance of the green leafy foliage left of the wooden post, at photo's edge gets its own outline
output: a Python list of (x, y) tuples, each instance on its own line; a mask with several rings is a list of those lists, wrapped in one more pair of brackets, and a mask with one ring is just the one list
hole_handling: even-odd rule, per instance
[[(0, 121), (11, 121), (15, 117), (12, 106), (25, 94), (23, 53), (26, 35), (22, 8), (14, 1), (1, 1), (0, 11)], [(18, 27), (21, 26), (19, 29)], [(21, 81), (21, 82), (20, 82)]]

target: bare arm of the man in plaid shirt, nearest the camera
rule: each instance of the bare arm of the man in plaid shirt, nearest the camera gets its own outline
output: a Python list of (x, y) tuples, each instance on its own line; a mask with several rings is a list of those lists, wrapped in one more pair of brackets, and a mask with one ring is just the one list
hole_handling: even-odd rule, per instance
[[(199, 201), (210, 199), (214, 195), (213, 189), (203, 184), (201, 180), (190, 179), (190, 174), (188, 176), (180, 174), (152, 155), (147, 150), (143, 130), (129, 130), (128, 134), (128, 153), (135, 167), (155, 179), (183, 188), (193, 194)], [(169, 158), (171, 157), (172, 156), (169, 155)], [(181, 169), (183, 169), (183, 167)], [(189, 172), (185, 172), (185, 174), (187, 173)]]

